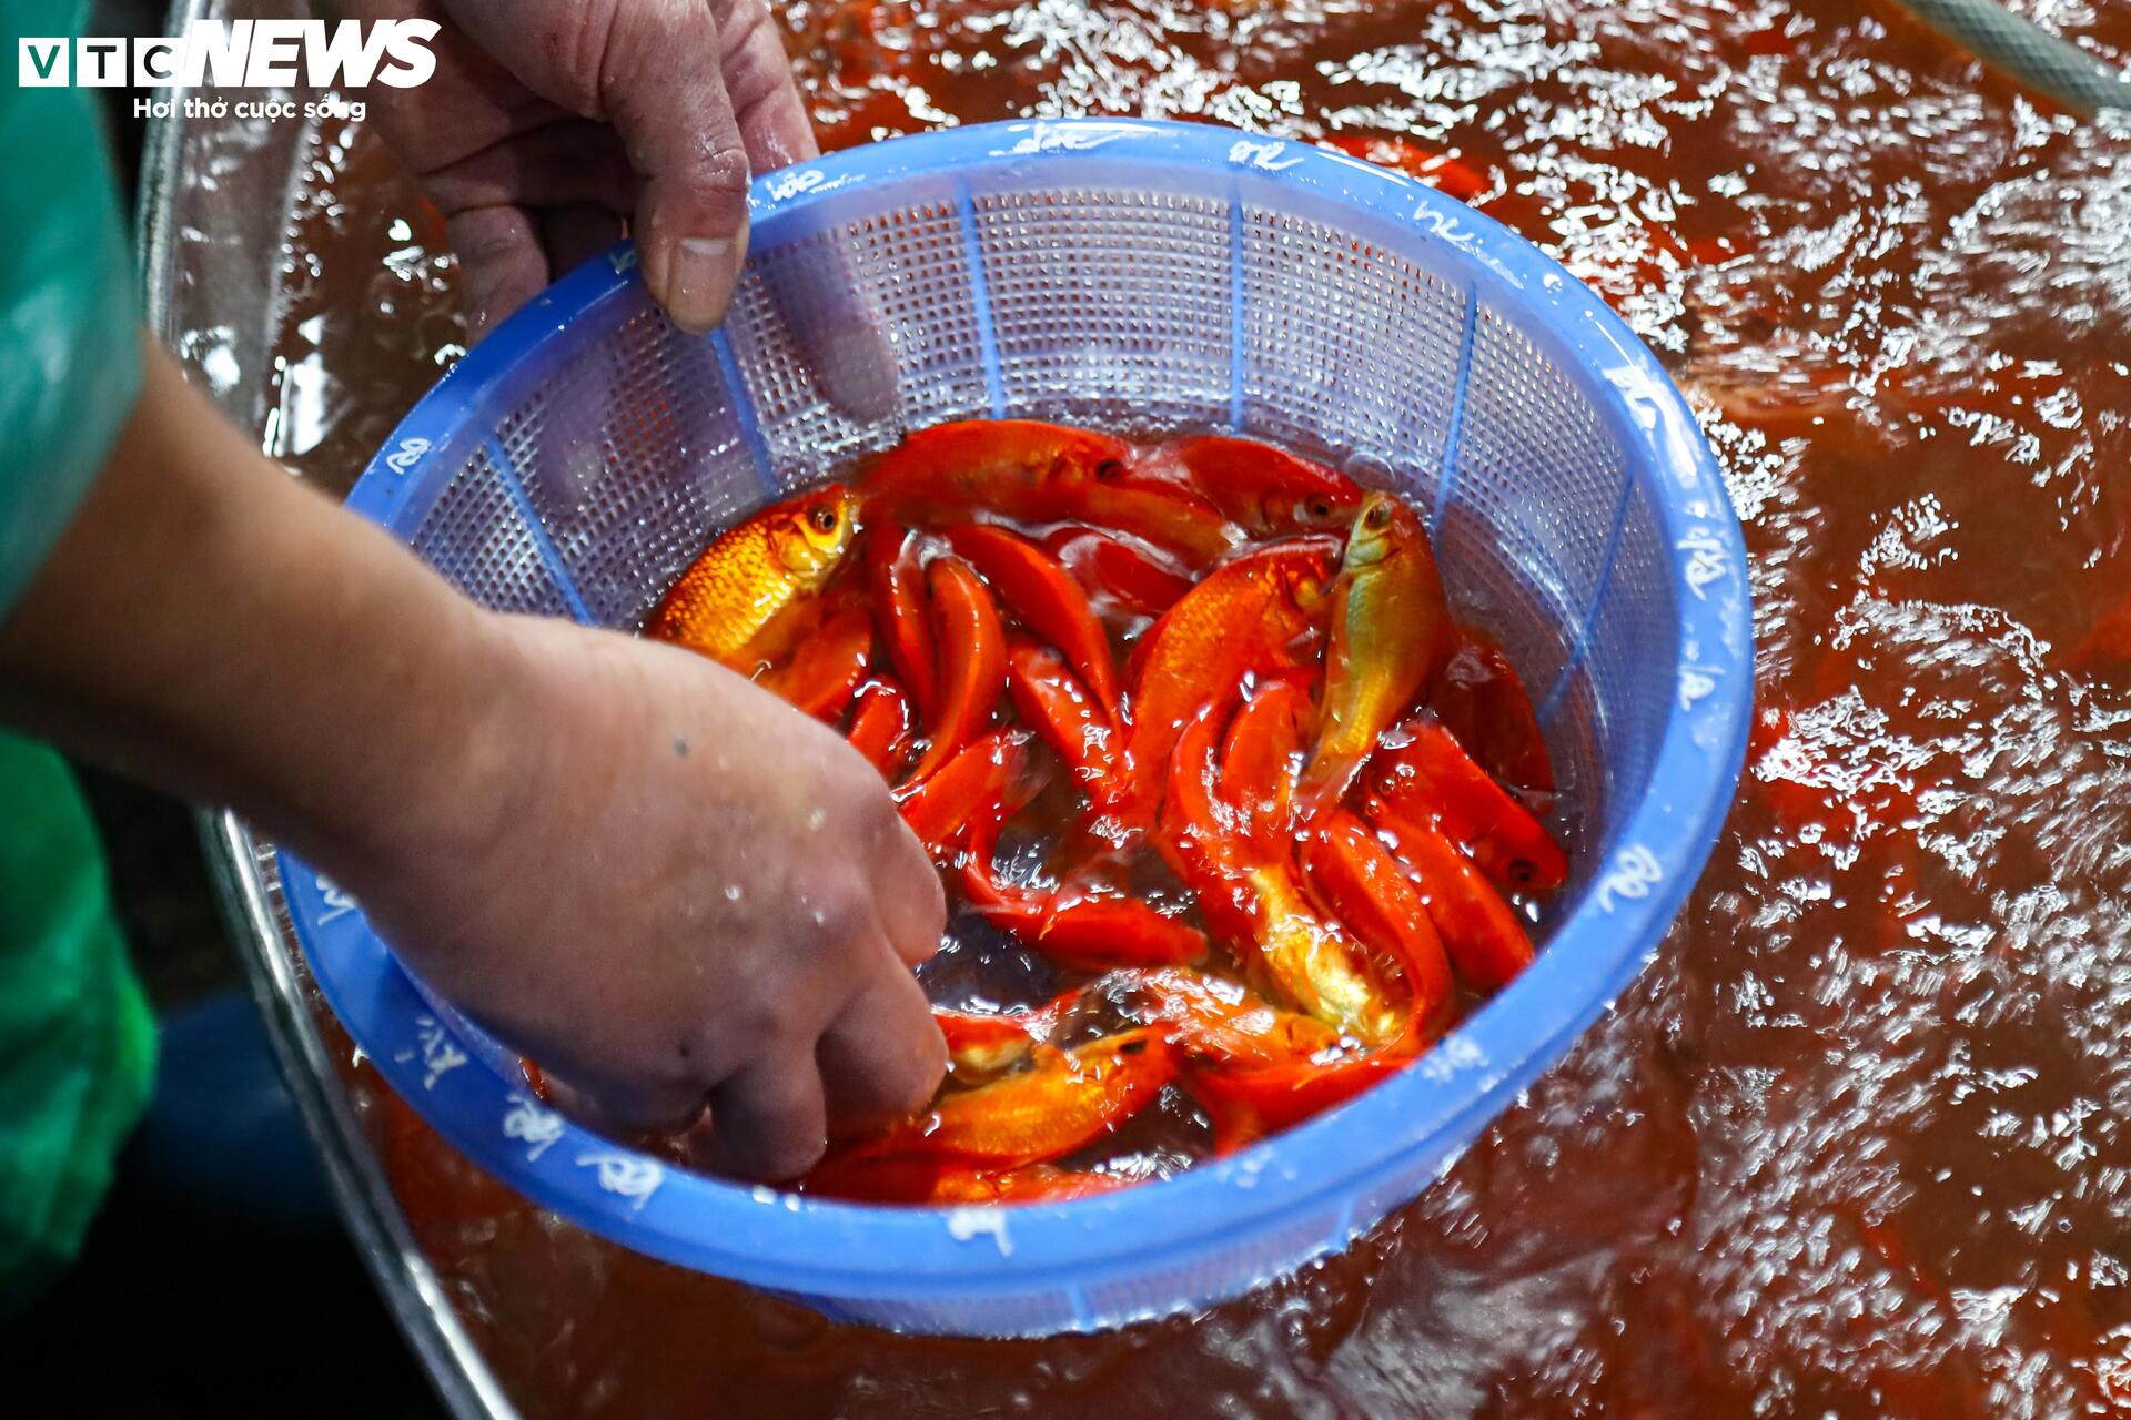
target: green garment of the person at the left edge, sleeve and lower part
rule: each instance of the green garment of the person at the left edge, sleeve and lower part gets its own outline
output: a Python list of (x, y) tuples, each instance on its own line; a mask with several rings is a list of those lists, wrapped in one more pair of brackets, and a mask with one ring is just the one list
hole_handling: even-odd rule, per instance
[[(75, 0), (9, 0), (6, 45), (77, 34)], [(49, 556), (141, 392), (96, 89), (0, 81), (0, 617)], [(0, 1322), (72, 1260), (147, 1101), (153, 1020), (81, 794), (0, 737)]]

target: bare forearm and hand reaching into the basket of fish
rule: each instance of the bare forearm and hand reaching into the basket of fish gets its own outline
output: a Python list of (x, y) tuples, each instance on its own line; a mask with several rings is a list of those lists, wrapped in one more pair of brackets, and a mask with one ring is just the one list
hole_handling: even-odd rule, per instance
[(175, 362), (0, 622), (0, 720), (228, 803), (605, 1120), (782, 1177), (923, 1103), (944, 905), (878, 775), (673, 647), (486, 613)]

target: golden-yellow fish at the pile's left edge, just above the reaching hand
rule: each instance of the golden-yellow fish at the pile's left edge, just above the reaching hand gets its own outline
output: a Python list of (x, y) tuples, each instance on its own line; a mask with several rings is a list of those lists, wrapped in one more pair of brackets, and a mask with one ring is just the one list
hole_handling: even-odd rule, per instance
[(682, 573), (644, 634), (733, 671), (754, 671), (757, 639), (829, 583), (857, 530), (859, 498), (842, 483), (767, 507), (718, 536)]

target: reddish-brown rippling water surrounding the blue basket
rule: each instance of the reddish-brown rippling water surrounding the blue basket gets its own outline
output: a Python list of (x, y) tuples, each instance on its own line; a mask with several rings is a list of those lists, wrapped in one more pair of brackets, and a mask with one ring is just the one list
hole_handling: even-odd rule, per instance
[[(2020, 9), (2131, 57), (2120, 6)], [(1762, 724), (1620, 1007), (1370, 1239), (1202, 1318), (827, 1326), (539, 1216), (358, 1071), (522, 1407), (2131, 1414), (2125, 141), (1831, 0), (786, 19), (835, 141), (1146, 113), (1455, 149), (1694, 396), (1754, 560)], [(435, 217), (369, 136), (326, 138), (266, 439), (345, 488), (460, 336)]]

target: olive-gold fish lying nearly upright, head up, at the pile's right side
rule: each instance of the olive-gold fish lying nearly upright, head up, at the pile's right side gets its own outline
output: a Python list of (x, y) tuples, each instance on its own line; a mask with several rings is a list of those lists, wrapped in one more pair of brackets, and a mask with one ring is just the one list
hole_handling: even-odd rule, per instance
[(1317, 747), (1296, 796), (1304, 820), (1347, 792), (1377, 737), (1434, 683), (1455, 637), (1428, 530), (1394, 494), (1362, 500), (1332, 602)]

